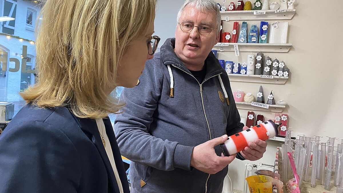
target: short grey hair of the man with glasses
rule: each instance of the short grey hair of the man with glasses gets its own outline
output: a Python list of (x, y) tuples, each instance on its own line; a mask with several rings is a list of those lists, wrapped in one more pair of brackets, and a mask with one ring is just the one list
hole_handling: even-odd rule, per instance
[(181, 13), (182, 13), (182, 11), (184, 11), (185, 7), (188, 4), (194, 5), (194, 7), (200, 11), (215, 12), (215, 14), (217, 15), (217, 19), (216, 19), (217, 33), (220, 32), (220, 29), (221, 29), (220, 26), (221, 26), (222, 19), (221, 19), (220, 10), (218, 8), (218, 5), (213, 0), (187, 0), (187, 1), (185, 1), (185, 3), (182, 5), (179, 12), (177, 13), (176, 23), (179, 22), (179, 19), (181, 17)]

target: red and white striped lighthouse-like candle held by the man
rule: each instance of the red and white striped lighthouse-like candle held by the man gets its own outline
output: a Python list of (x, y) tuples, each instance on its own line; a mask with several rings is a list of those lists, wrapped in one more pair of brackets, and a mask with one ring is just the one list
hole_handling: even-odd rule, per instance
[(268, 120), (235, 135), (229, 136), (225, 143), (220, 144), (219, 147), (221, 148), (224, 156), (234, 155), (237, 152), (244, 150), (250, 142), (254, 142), (256, 139), (265, 141), (279, 135), (278, 127), (279, 125)]

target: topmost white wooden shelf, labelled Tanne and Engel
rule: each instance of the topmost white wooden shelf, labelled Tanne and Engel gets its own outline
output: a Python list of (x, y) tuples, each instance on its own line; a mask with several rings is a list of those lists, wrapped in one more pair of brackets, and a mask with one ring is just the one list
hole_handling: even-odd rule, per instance
[(229, 17), (229, 21), (232, 20), (290, 20), (295, 14), (295, 9), (287, 9), (286, 12), (275, 13), (275, 10), (256, 10), (265, 11), (265, 14), (254, 15), (255, 10), (249, 11), (221, 11), (221, 19), (226, 21), (226, 17)]

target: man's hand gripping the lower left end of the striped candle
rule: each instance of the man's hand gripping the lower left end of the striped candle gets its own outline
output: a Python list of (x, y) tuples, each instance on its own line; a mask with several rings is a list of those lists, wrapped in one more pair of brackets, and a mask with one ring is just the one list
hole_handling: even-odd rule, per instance
[(223, 135), (195, 146), (192, 152), (191, 166), (209, 174), (215, 174), (224, 169), (235, 159), (236, 154), (225, 157), (222, 153), (222, 157), (220, 157), (215, 153), (214, 147), (226, 140), (227, 135)]

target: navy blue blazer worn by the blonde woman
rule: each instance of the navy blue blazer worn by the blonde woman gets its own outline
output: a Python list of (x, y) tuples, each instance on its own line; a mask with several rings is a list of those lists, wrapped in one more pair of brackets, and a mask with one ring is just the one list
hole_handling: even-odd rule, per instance
[[(124, 192), (130, 192), (109, 118), (106, 133)], [(0, 192), (118, 192), (94, 119), (66, 107), (24, 106), (0, 135)]]

